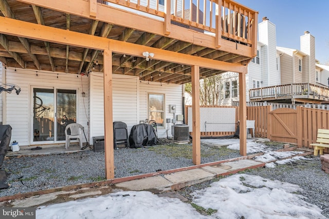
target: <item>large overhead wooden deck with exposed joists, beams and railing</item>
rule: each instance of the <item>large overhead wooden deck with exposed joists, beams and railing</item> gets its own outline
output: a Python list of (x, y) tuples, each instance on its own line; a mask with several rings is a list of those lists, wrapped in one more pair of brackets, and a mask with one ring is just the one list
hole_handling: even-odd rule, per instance
[[(106, 47), (113, 51), (113, 73), (145, 81), (190, 82), (192, 65), (200, 66), (200, 78), (246, 73), (257, 51), (258, 12), (229, 0), (163, 3), (1, 0), (0, 61), (6, 67), (88, 74), (103, 72)], [(144, 51), (154, 57), (147, 61)]]

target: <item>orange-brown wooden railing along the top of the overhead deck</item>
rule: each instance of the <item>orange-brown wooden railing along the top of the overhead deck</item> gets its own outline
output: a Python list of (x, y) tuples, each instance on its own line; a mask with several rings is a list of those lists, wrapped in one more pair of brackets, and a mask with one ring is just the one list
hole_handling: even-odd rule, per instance
[[(163, 19), (165, 34), (170, 24), (192, 27), (215, 34), (217, 47), (222, 38), (255, 48), (258, 12), (231, 0), (104, 0)], [(173, 3), (173, 4), (171, 4)], [(255, 50), (256, 51), (256, 50)]]

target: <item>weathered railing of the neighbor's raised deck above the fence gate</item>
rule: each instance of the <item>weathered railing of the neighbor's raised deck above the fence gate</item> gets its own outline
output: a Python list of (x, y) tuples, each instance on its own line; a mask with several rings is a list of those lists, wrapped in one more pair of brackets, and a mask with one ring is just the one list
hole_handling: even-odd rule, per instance
[(249, 90), (250, 99), (284, 98), (284, 97), (328, 98), (329, 88), (309, 83), (286, 84)]

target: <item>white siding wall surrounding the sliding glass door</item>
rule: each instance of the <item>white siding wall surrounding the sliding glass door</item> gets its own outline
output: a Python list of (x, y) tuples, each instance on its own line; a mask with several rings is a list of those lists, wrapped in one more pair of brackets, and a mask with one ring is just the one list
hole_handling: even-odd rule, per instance
[[(38, 76), (36, 75), (38, 74)], [(22, 76), (24, 75), (24, 77)], [(76, 74), (63, 74), (51, 72), (36, 72), (26, 69), (7, 68), (6, 82), (16, 84), (21, 87), (19, 95), (16, 93), (6, 94), (6, 124), (12, 127), (11, 142), (16, 141), (20, 145), (30, 144), (30, 122), (32, 122), (33, 113), (30, 109), (30, 87), (43, 87), (50, 85), (55, 88), (76, 89), (77, 90), (77, 123), (84, 126), (84, 130), (88, 132), (87, 117), (88, 111), (85, 111), (81, 90), (87, 89), (87, 76), (82, 77)], [(51, 82), (51, 84), (49, 84)], [(88, 110), (86, 106), (86, 110)], [(85, 142), (85, 140), (84, 140)]]

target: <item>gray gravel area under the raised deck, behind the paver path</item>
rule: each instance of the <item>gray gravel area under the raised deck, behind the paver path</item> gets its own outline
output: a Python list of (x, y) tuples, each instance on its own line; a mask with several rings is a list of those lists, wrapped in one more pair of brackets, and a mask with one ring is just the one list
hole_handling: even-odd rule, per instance
[[(202, 146), (202, 164), (239, 157), (239, 151)], [(114, 150), (115, 177), (193, 166), (192, 145), (156, 145)], [(104, 152), (6, 157), (8, 189), (0, 196), (105, 180)]]

